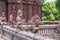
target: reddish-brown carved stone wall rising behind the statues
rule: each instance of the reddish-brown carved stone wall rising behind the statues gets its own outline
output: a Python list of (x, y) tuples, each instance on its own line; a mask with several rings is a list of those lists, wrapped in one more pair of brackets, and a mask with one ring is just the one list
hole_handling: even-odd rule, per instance
[(13, 14), (13, 21), (16, 22), (18, 11), (21, 10), (22, 18), (25, 22), (31, 20), (31, 18), (38, 14), (41, 21), (41, 5), (39, 0), (4, 0), (0, 1), (0, 15), (5, 13), (7, 22), (10, 21), (10, 15)]

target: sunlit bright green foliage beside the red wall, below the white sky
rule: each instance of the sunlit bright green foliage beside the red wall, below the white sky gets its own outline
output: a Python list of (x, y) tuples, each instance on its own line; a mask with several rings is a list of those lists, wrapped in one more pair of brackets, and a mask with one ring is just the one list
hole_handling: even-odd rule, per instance
[[(43, 12), (42, 20), (55, 21), (58, 19), (58, 16), (60, 17), (60, 14), (56, 8), (56, 1), (46, 3), (45, 0), (41, 0), (41, 3)], [(57, 19), (55, 19), (56, 17)]]

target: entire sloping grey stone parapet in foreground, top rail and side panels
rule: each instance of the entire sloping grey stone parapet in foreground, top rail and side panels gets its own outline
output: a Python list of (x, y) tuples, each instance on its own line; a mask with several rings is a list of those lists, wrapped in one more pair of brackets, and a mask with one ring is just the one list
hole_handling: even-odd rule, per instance
[(10, 40), (54, 40), (31, 32), (17, 30), (7, 25), (2, 27), (3, 36)]

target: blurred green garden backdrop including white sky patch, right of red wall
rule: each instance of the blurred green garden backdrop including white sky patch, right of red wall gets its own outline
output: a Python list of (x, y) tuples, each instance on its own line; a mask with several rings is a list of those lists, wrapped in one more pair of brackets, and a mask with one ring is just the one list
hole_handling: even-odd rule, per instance
[(41, 0), (42, 21), (60, 21), (60, 0)]

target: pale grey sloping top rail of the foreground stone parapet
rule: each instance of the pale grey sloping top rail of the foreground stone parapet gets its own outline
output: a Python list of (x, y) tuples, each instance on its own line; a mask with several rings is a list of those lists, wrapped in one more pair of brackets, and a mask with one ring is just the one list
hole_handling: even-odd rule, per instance
[(48, 37), (43, 37), (43, 36), (38, 35), (38, 34), (33, 34), (31, 32), (20, 31), (20, 30), (17, 30), (15, 28), (12, 28), (10, 26), (7, 26), (7, 25), (3, 25), (2, 30), (5, 30), (9, 33), (13, 32), (13, 34), (16, 33), (15, 35), (17, 35), (17, 36), (22, 35), (22, 36), (25, 36), (27, 38), (31, 38), (32, 40), (54, 40), (54, 39), (50, 39)]

